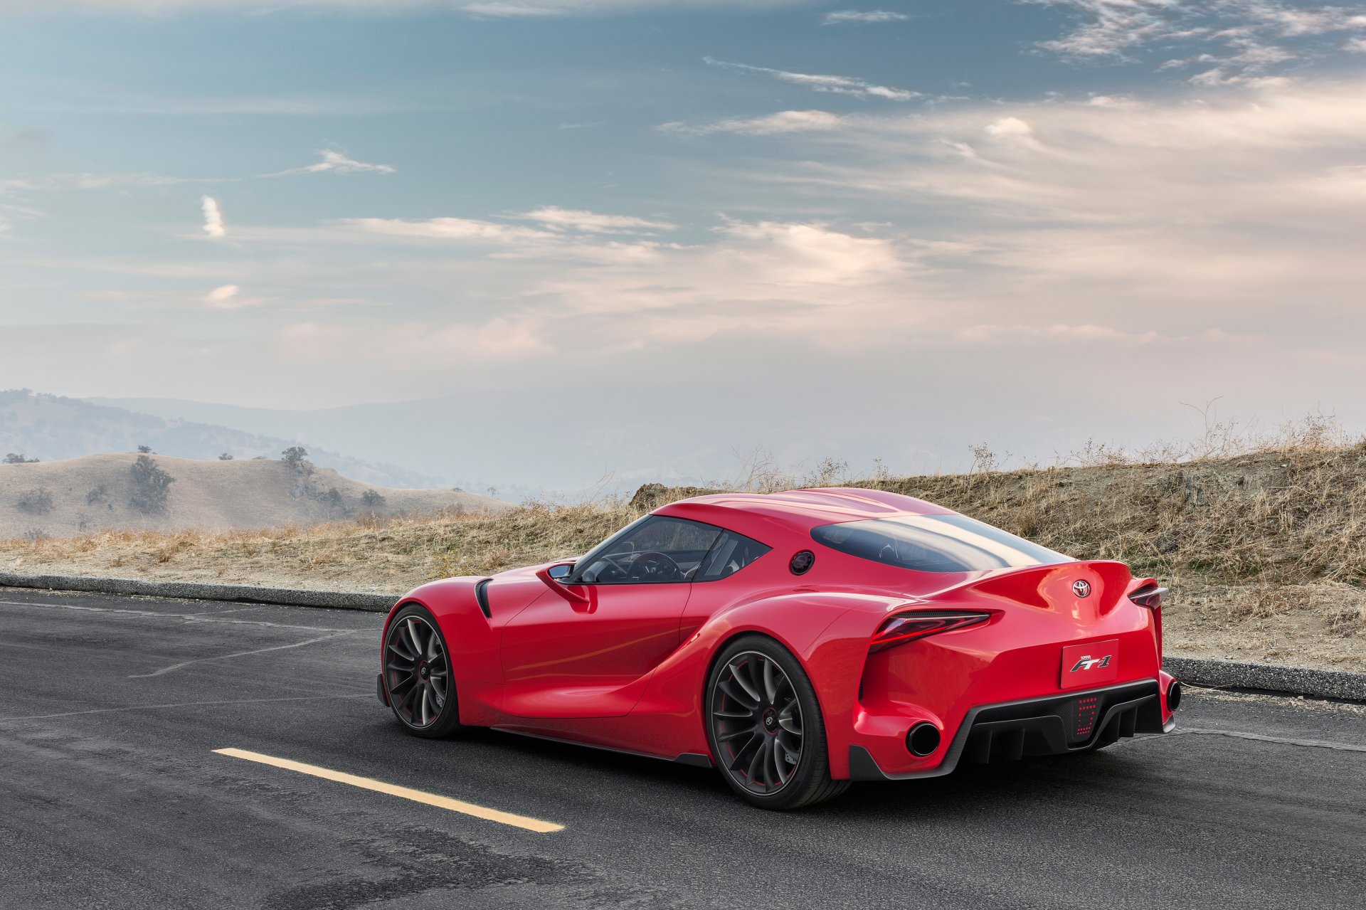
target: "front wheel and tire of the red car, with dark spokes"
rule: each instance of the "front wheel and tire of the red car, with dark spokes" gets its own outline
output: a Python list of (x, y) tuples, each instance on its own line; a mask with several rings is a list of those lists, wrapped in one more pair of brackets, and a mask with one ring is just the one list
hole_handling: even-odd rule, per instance
[(385, 631), (384, 693), (414, 736), (441, 739), (462, 730), (451, 649), (441, 624), (418, 604), (399, 609)]

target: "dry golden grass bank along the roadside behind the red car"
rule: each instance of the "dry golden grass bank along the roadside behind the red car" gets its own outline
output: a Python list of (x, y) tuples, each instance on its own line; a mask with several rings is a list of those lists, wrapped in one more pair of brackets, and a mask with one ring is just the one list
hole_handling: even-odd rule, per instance
[[(985, 452), (979, 462), (989, 462)], [(994, 456), (993, 456), (994, 458)], [(717, 486), (848, 484), (948, 506), (1082, 559), (1121, 559), (1172, 588), (1167, 641), (1187, 656), (1366, 670), (1366, 447), (1302, 436), (1273, 451), (850, 481), (761, 462)], [(673, 499), (530, 503), (500, 515), (343, 521), (227, 533), (101, 532), (0, 541), (14, 571), (402, 592), (433, 578), (572, 556)]]

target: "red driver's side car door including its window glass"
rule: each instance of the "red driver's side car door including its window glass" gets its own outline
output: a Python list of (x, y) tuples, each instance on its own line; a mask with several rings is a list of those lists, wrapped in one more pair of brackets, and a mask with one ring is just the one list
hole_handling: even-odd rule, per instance
[(575, 566), (583, 603), (540, 597), (503, 629), (504, 711), (616, 717), (679, 646), (690, 581), (720, 536), (712, 525), (646, 516)]

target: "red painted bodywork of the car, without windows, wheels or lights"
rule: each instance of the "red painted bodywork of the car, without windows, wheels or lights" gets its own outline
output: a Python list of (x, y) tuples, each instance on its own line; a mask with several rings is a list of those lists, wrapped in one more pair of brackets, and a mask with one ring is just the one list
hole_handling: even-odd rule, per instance
[[(735, 635), (759, 633), (791, 650), (817, 691), (832, 775), (848, 776), (848, 747), (869, 750), (888, 773), (929, 771), (977, 705), (1074, 687), (1161, 679), (1160, 611), (1127, 594), (1117, 562), (1075, 562), (994, 573), (917, 573), (870, 563), (813, 541), (817, 525), (906, 514), (953, 514), (877, 491), (727, 493), (672, 503), (660, 515), (735, 530), (772, 551), (712, 582), (581, 585), (552, 590), (549, 566), (501, 573), (488, 586), (490, 618), (474, 598), (478, 577), (423, 585), (399, 605), (423, 604), (441, 624), (466, 724), (500, 727), (664, 758), (709, 754), (703, 689), (716, 653)], [(795, 577), (794, 553), (816, 564)], [(541, 577), (537, 577), (541, 573)], [(1086, 581), (1090, 594), (1072, 585)], [(583, 600), (579, 601), (578, 597)], [(891, 612), (973, 609), (979, 626), (869, 653)], [(391, 613), (392, 615), (392, 613)], [(1104, 642), (1104, 668), (1064, 685), (1072, 664)], [(862, 687), (862, 695), (859, 690)], [(930, 721), (938, 750), (911, 756), (906, 732)]]

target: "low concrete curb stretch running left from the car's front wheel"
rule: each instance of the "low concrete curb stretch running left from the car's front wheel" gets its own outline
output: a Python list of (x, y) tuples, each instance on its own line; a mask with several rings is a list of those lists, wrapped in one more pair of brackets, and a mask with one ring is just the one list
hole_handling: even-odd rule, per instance
[(134, 578), (87, 578), (82, 575), (20, 575), (0, 573), (0, 588), (76, 590), (97, 594), (142, 594), (186, 600), (232, 600), (247, 604), (285, 607), (329, 607), (385, 613), (402, 594), (358, 594), (339, 590), (257, 588), (255, 585), (206, 585), (201, 582), (153, 582)]

